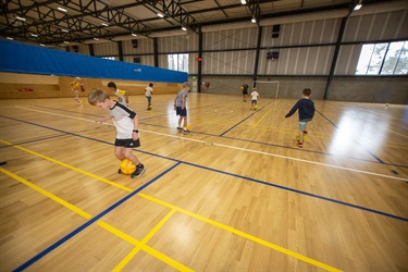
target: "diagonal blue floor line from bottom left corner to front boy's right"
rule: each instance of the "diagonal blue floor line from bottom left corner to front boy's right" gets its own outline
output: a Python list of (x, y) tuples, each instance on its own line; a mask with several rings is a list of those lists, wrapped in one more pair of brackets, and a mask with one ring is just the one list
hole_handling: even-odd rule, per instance
[(125, 201), (127, 201), (129, 198), (132, 198), (133, 196), (135, 196), (136, 194), (138, 194), (139, 191), (141, 191), (143, 189), (145, 189), (147, 186), (151, 185), (156, 181), (158, 181), (160, 177), (162, 177), (163, 175), (165, 175), (166, 173), (169, 173), (170, 171), (172, 171), (173, 169), (175, 169), (180, 164), (181, 164), (181, 162), (177, 162), (174, 165), (172, 165), (171, 168), (164, 170), (162, 173), (160, 173), (159, 175), (157, 175), (156, 177), (150, 180), (148, 183), (141, 185), (136, 190), (132, 191), (131, 194), (128, 194), (124, 198), (120, 199), (119, 201), (113, 203), (111, 207), (103, 210), (98, 215), (91, 218), (86, 223), (78, 226), (77, 228), (75, 228), (74, 231), (72, 231), (71, 233), (69, 233), (67, 235), (65, 235), (64, 237), (62, 237), (61, 239), (59, 239), (58, 242), (55, 242), (54, 244), (52, 244), (51, 246), (49, 246), (48, 248), (46, 248), (45, 250), (42, 250), (41, 252), (36, 255), (35, 257), (29, 259), (28, 261), (24, 262), (22, 265), (20, 265), (18, 268), (16, 268), (13, 271), (23, 271), (23, 270), (27, 269), (29, 265), (32, 265), (33, 263), (35, 263), (36, 261), (38, 261), (39, 259), (41, 259), (42, 257), (45, 257), (46, 255), (48, 255), (49, 252), (51, 252), (52, 250), (54, 250), (55, 248), (58, 248), (59, 246), (61, 246), (62, 244), (64, 244), (65, 242), (67, 242), (72, 237), (74, 237), (75, 235), (77, 235), (78, 233), (81, 233), (82, 231), (84, 231), (85, 228), (87, 228), (89, 225), (97, 222), (99, 219), (101, 219), (102, 217), (104, 217), (106, 214), (108, 214), (109, 212), (111, 212), (112, 210), (114, 210), (115, 208), (118, 208), (119, 206), (124, 203)]

